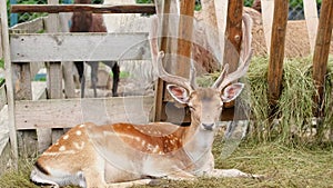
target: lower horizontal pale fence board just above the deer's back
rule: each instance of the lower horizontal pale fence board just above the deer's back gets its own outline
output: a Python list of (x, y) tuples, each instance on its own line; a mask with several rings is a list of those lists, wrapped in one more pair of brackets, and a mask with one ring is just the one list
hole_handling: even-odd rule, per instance
[(17, 101), (19, 130), (70, 128), (85, 121), (98, 125), (119, 121), (143, 123), (153, 107), (153, 97), (117, 97)]

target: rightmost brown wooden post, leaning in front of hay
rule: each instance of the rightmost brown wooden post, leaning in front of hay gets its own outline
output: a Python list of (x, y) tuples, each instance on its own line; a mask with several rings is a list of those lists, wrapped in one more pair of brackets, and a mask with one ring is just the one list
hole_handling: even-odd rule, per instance
[(313, 80), (317, 89), (315, 102), (319, 105), (316, 116), (323, 116), (321, 111), (323, 103), (323, 92), (325, 85), (325, 76), (327, 71), (327, 60), (330, 52), (330, 43), (333, 28), (333, 1), (323, 0), (321, 16), (319, 20), (317, 34), (313, 55)]

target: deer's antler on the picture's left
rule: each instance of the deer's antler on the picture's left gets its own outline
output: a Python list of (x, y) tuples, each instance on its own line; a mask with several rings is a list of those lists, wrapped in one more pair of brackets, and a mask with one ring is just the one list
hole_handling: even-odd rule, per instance
[(158, 44), (158, 18), (152, 20), (150, 32), (150, 48), (152, 53), (153, 63), (158, 65), (159, 77), (167, 81), (184, 87), (190, 93), (195, 89), (195, 68), (191, 65), (190, 79), (170, 75), (163, 67), (164, 52), (159, 51)]

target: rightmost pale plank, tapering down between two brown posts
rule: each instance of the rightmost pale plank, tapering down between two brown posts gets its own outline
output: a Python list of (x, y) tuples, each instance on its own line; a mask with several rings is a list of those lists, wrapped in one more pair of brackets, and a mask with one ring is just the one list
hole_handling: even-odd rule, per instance
[(317, 22), (319, 22), (316, 1), (315, 0), (303, 0), (303, 4), (304, 4), (304, 14), (305, 14), (305, 21), (306, 21), (306, 27), (307, 27), (310, 49), (311, 49), (311, 53), (313, 53), (314, 46), (315, 46)]

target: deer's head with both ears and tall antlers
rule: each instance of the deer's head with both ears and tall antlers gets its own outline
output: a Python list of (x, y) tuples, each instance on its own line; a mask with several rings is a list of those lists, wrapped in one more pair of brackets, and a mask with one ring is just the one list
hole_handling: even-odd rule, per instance
[[(151, 36), (152, 56), (158, 65), (159, 77), (172, 83), (167, 86), (167, 90), (175, 101), (189, 106), (192, 123), (199, 125), (201, 130), (214, 130), (216, 128), (215, 122), (222, 112), (223, 103), (234, 100), (244, 88), (243, 83), (234, 82), (246, 73), (252, 56), (251, 18), (244, 16), (243, 20), (244, 41), (239, 68), (234, 72), (229, 72), (229, 65), (225, 63), (219, 78), (210, 88), (196, 86), (194, 66), (191, 66), (189, 79), (168, 73), (162, 65), (164, 52), (158, 52), (157, 50), (158, 43), (154, 37), (157, 31), (151, 31), (151, 34), (153, 34)], [(153, 24), (157, 24), (157, 21)]]

